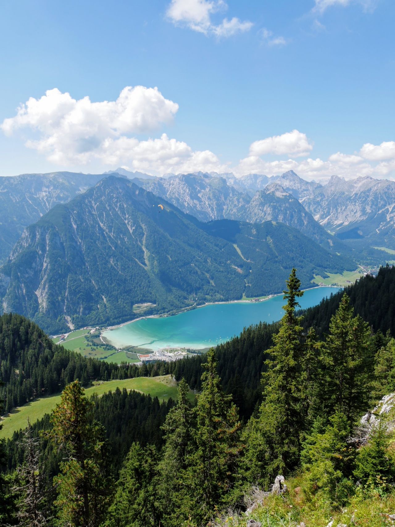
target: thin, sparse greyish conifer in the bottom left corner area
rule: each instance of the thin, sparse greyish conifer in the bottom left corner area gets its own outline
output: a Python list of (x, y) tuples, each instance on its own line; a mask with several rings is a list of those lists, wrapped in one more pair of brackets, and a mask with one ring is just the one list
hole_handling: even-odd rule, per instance
[(45, 497), (44, 477), (39, 463), (40, 441), (33, 435), (29, 421), (23, 431), (22, 448), (24, 463), (16, 470), (17, 485), (14, 492), (18, 495), (18, 525), (21, 527), (44, 527), (48, 525), (48, 512)]

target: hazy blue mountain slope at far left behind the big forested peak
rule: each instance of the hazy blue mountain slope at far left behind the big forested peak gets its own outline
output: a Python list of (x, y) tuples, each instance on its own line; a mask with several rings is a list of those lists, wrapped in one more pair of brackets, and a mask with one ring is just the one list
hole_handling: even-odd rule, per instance
[(25, 227), (57, 203), (65, 203), (103, 178), (102, 174), (52, 172), (0, 178), (0, 262)]

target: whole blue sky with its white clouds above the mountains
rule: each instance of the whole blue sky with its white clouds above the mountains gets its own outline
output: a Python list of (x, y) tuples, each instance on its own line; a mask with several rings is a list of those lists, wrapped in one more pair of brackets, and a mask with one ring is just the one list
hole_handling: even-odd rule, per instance
[(393, 179), (393, 19), (393, 0), (3, 0), (0, 175)]

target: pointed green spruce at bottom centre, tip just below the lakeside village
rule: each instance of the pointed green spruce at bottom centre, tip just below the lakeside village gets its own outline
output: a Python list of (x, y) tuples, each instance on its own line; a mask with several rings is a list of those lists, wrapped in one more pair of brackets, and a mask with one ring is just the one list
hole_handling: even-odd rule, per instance
[(209, 519), (214, 506), (231, 497), (235, 483), (236, 462), (240, 455), (240, 421), (232, 397), (225, 395), (216, 371), (214, 349), (207, 353), (202, 375), (202, 393), (197, 396), (196, 452), (193, 473), (197, 518)]

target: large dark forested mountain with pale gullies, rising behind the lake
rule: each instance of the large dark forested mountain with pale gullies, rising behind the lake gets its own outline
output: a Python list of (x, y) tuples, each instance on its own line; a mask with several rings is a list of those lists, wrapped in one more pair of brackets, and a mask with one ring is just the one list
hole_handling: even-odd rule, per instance
[(200, 223), (110, 176), (25, 229), (0, 268), (2, 309), (53, 333), (130, 320), (141, 302), (160, 313), (278, 292), (292, 266), (304, 287), (313, 274), (344, 269), (281, 223), (224, 221)]

